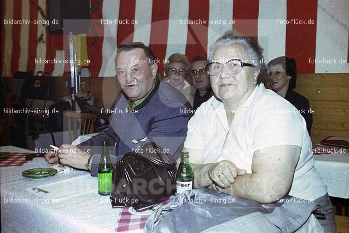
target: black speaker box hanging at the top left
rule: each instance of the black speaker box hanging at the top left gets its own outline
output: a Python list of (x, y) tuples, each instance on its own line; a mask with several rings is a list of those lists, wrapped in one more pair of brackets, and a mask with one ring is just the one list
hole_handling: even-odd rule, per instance
[(50, 32), (84, 33), (90, 30), (90, 0), (47, 0)]

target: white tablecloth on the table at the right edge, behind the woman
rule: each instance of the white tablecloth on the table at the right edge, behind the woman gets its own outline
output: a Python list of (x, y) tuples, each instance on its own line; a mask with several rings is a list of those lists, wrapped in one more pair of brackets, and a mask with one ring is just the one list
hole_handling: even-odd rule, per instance
[(349, 198), (349, 154), (315, 155), (315, 168), (331, 197)]

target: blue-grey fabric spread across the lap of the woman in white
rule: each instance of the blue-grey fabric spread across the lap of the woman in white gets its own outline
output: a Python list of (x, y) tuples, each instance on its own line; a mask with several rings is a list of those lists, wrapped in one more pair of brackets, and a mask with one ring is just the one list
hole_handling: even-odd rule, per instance
[[(235, 199), (209, 189), (177, 195), (147, 220), (145, 232), (295, 232), (319, 205), (286, 196), (282, 201), (259, 204)], [(314, 218), (314, 216), (312, 216)], [(317, 223), (318, 231), (322, 227)]]

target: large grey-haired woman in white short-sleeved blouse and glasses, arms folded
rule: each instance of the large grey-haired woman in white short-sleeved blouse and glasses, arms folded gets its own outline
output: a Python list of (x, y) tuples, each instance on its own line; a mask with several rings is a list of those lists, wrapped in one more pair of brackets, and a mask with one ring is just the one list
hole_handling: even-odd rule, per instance
[(336, 225), (327, 187), (314, 167), (304, 118), (264, 88), (262, 49), (252, 37), (226, 32), (212, 46), (206, 69), (214, 92), (189, 120), (183, 151), (190, 154), (195, 188), (211, 188), (259, 203), (285, 195), (325, 210)]

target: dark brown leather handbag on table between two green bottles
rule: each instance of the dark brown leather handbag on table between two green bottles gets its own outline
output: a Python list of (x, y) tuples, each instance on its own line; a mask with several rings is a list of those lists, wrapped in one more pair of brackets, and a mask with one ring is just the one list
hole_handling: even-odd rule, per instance
[(176, 161), (156, 143), (129, 152), (113, 168), (112, 207), (151, 209), (175, 194)]

